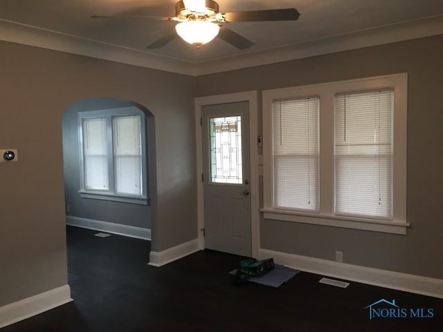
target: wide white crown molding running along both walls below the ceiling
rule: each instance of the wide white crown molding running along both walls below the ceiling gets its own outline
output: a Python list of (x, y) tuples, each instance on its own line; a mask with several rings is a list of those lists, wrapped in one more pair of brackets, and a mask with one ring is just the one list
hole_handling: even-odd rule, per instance
[(59, 50), (66, 53), (192, 76), (233, 71), (241, 68), (262, 66), (442, 34), (443, 15), (435, 15), (433, 17), (400, 22), (344, 35), (309, 40), (279, 48), (194, 63), (0, 19), (0, 40), (5, 42)]

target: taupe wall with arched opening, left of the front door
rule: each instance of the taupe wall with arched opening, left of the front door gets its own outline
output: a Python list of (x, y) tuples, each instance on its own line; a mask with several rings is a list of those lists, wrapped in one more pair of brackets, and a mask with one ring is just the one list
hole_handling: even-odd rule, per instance
[(197, 237), (194, 77), (7, 42), (0, 63), (0, 146), (19, 151), (0, 163), (0, 306), (67, 282), (62, 113), (78, 100), (153, 113), (152, 249)]

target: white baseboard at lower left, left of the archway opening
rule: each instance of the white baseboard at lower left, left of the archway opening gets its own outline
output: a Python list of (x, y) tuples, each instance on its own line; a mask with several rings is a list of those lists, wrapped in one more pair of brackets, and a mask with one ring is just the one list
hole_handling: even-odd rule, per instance
[(0, 307), (0, 329), (71, 302), (71, 288), (64, 285)]

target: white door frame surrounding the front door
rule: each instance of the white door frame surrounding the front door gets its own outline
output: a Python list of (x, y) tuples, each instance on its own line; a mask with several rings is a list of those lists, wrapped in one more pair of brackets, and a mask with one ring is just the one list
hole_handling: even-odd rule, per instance
[(205, 238), (202, 229), (204, 223), (204, 192), (201, 174), (203, 174), (203, 148), (201, 141), (201, 108), (206, 105), (227, 104), (230, 102), (249, 103), (249, 145), (250, 145), (250, 165), (251, 165), (251, 239), (252, 257), (258, 258), (260, 248), (260, 210), (259, 210), (259, 187), (258, 187), (258, 147), (257, 147), (257, 91), (246, 91), (240, 93), (228, 93), (224, 95), (209, 95), (195, 98), (195, 142), (197, 154), (197, 234), (199, 239), (199, 249), (204, 250)]

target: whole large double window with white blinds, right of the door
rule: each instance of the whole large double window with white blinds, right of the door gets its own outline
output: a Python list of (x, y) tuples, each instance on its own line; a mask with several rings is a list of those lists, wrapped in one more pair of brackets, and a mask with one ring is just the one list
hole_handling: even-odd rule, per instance
[(407, 77), (263, 91), (264, 219), (406, 234)]

